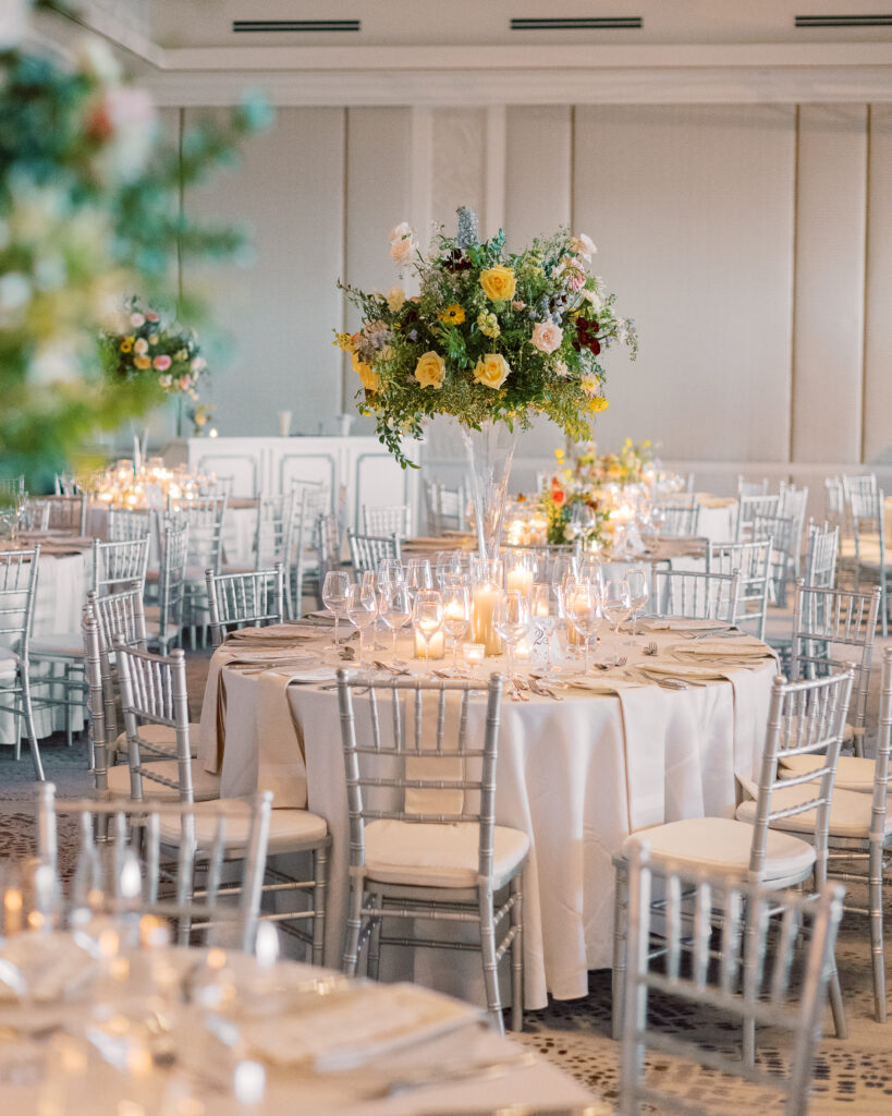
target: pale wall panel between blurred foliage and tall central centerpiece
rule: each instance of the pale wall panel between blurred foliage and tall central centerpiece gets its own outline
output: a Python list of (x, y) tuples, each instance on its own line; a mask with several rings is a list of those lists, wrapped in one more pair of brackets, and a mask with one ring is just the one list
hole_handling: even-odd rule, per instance
[(212, 363), (221, 433), (273, 434), (280, 410), (317, 433), (340, 410), (343, 169), (342, 109), (281, 108), (239, 166), (187, 192), (187, 213), (244, 225), (253, 247), (242, 267), (186, 268), (227, 335)]

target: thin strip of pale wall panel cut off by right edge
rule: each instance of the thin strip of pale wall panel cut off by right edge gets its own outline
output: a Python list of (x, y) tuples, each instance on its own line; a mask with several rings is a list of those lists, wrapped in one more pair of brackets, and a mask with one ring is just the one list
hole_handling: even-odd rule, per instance
[(892, 461), (892, 108), (874, 105), (867, 192), (864, 461)]

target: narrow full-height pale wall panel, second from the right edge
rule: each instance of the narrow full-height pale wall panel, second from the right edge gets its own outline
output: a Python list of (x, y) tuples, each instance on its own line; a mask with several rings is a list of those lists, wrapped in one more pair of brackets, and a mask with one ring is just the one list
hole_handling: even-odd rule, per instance
[(857, 461), (866, 108), (803, 105), (796, 199), (793, 455)]

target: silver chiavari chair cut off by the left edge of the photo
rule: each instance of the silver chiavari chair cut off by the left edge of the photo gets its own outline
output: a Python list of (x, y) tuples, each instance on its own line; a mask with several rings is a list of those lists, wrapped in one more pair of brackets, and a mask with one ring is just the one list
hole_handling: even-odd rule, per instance
[[(21, 758), (21, 729), (31, 749), (38, 779), (43, 764), (37, 743), (30, 674), (31, 616), (37, 593), (40, 547), (0, 551), (0, 705), (13, 714), (16, 759)], [(6, 704), (9, 701), (11, 704)]]

